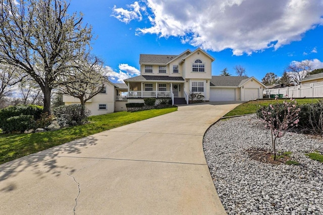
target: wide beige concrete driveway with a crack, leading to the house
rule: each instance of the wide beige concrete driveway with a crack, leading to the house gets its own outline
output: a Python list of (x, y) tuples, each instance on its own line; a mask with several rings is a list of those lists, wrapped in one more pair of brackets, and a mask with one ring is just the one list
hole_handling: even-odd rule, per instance
[(5, 163), (0, 213), (226, 214), (202, 139), (237, 105), (180, 106)]

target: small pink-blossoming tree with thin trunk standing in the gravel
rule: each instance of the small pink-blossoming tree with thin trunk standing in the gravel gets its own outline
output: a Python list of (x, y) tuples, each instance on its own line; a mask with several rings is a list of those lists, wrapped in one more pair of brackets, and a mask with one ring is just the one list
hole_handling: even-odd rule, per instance
[(274, 160), (276, 160), (276, 139), (284, 136), (287, 129), (297, 126), (299, 122), (300, 108), (296, 105), (296, 100), (291, 98), (290, 102), (285, 100), (283, 104), (277, 102), (260, 108), (265, 127), (271, 129)]

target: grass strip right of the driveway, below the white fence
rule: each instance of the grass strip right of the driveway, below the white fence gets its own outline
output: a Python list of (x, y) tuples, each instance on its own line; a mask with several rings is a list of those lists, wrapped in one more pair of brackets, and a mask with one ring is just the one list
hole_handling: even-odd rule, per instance
[[(274, 104), (276, 102), (283, 103), (284, 99), (271, 99), (271, 100), (257, 100), (257, 101), (250, 101), (244, 104), (239, 105), (229, 113), (227, 113), (225, 116), (237, 116), (237, 115), (243, 115), (243, 114), (250, 114), (255, 113), (259, 106), (266, 106), (269, 104)], [(307, 104), (307, 103), (316, 103), (318, 99), (296, 99), (298, 104)]]

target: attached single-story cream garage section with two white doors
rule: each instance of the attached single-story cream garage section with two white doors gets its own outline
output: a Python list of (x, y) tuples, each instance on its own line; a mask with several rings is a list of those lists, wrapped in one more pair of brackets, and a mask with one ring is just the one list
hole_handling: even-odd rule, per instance
[(212, 76), (210, 101), (249, 101), (262, 99), (265, 88), (254, 77)]

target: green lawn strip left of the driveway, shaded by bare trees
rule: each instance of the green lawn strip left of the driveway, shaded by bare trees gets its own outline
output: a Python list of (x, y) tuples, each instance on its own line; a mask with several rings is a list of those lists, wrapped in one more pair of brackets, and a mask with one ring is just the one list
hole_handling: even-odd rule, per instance
[(89, 117), (90, 123), (56, 131), (0, 134), (0, 164), (104, 130), (176, 111), (177, 107), (139, 112), (117, 112)]

